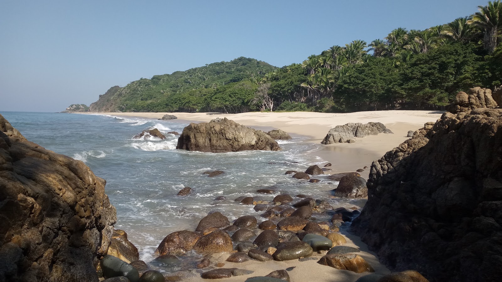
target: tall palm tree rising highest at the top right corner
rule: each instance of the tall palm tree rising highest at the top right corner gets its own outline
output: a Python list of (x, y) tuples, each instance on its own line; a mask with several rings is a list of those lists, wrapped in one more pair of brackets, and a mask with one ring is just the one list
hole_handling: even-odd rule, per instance
[(478, 6), (469, 24), (484, 30), (484, 49), (493, 53), (497, 47), (498, 29), (502, 27), (502, 3), (500, 0), (488, 1), (487, 6)]

